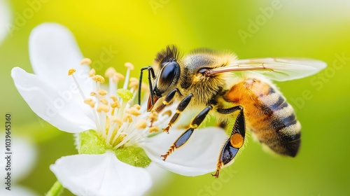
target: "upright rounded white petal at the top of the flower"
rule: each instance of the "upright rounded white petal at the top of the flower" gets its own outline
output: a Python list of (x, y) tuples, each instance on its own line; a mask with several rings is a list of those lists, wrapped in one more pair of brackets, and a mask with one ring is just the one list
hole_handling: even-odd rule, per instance
[[(81, 66), (83, 55), (69, 29), (57, 23), (38, 25), (29, 36), (29, 57), (34, 73), (43, 80), (69, 89), (73, 84), (69, 69), (76, 69), (75, 76), (85, 95), (90, 94), (89, 66)], [(61, 89), (60, 89), (61, 90)], [(73, 97), (75, 98), (75, 97)]]

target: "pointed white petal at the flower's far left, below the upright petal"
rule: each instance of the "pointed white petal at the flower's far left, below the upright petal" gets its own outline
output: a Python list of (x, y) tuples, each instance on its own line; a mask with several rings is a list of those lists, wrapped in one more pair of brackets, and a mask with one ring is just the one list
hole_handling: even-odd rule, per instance
[[(54, 125), (59, 130), (71, 133), (85, 130), (96, 130), (92, 115), (88, 115), (89, 106), (71, 102), (71, 98), (42, 78), (27, 73), (19, 67), (11, 71), (18, 92), (29, 107), (43, 120)], [(69, 94), (69, 92), (66, 92)], [(83, 99), (81, 99), (83, 103)], [(83, 107), (86, 107), (83, 110)]]

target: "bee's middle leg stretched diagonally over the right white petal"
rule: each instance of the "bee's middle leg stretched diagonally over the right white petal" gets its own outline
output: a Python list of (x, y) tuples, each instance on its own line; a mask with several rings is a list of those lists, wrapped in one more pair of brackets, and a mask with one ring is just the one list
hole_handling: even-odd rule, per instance
[(208, 115), (211, 109), (213, 109), (213, 106), (207, 106), (195, 118), (193, 118), (188, 130), (183, 132), (183, 134), (181, 134), (181, 136), (178, 139), (176, 139), (174, 144), (170, 146), (169, 150), (167, 151), (167, 153), (165, 153), (165, 155), (160, 156), (161, 158), (163, 158), (164, 161), (167, 159), (167, 156), (169, 156), (172, 152), (175, 151), (176, 148), (180, 148), (181, 146), (183, 146), (183, 144), (186, 143), (186, 141), (188, 141), (188, 139), (190, 139), (190, 136), (193, 134), (193, 131), (203, 122), (204, 118)]

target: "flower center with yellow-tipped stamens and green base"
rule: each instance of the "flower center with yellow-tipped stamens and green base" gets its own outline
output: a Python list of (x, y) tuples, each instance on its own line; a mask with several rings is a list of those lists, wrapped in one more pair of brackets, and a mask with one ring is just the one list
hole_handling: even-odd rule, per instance
[[(83, 59), (81, 64), (89, 65), (91, 60)], [(114, 151), (119, 160), (130, 165), (146, 167), (151, 160), (144, 150), (138, 147), (138, 144), (150, 137), (151, 132), (158, 132), (157, 125), (169, 120), (171, 112), (168, 111), (167, 115), (158, 118), (158, 114), (146, 113), (146, 106), (141, 109), (138, 104), (133, 104), (139, 80), (130, 78), (130, 71), (134, 69), (132, 64), (126, 63), (125, 66), (127, 66), (125, 76), (111, 67), (106, 70), (105, 76), (109, 78), (108, 91), (102, 86), (104, 77), (96, 75), (96, 71), (91, 69), (89, 77), (92, 79), (92, 92), (88, 97), (74, 76), (76, 70), (69, 70), (68, 74), (73, 77), (83, 102), (90, 106), (96, 124), (96, 130), (78, 134), (76, 144), (79, 153), (99, 154)], [(123, 88), (118, 89), (120, 80), (125, 82)], [(129, 80), (130, 83), (128, 83)], [(145, 89), (147, 88), (142, 88), (142, 90)]]

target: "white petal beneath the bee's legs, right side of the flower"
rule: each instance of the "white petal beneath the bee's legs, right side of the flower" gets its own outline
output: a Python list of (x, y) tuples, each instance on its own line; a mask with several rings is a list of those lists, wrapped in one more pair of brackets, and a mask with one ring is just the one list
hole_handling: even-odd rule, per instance
[(184, 146), (176, 149), (163, 161), (160, 155), (167, 152), (182, 132), (183, 130), (170, 130), (169, 134), (158, 134), (141, 145), (153, 162), (171, 172), (183, 176), (214, 172), (223, 143), (228, 139), (225, 131), (218, 127), (195, 130)]

